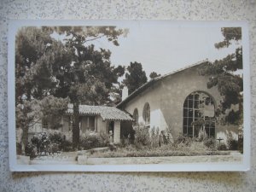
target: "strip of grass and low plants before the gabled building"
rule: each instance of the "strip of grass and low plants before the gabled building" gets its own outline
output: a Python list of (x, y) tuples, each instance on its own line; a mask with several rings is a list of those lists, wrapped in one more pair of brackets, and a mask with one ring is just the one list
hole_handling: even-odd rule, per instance
[(167, 144), (161, 147), (151, 148), (148, 146), (129, 145), (117, 148), (115, 151), (95, 152), (90, 157), (157, 157), (157, 156), (198, 156), (198, 155), (224, 155), (228, 151), (218, 151), (215, 148), (206, 148), (203, 143), (191, 143), (189, 146), (180, 143), (178, 145)]

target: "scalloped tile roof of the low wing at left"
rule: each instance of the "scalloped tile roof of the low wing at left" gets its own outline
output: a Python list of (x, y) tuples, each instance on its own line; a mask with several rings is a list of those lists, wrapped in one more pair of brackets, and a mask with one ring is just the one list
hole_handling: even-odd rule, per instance
[[(67, 113), (73, 113), (73, 104), (68, 104)], [(115, 107), (79, 105), (81, 115), (100, 115), (103, 120), (131, 120), (131, 115)]]

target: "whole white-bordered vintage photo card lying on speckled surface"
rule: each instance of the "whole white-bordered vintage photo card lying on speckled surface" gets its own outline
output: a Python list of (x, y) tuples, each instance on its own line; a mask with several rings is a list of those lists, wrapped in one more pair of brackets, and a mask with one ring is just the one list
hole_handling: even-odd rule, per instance
[(247, 171), (247, 25), (14, 20), (12, 171)]

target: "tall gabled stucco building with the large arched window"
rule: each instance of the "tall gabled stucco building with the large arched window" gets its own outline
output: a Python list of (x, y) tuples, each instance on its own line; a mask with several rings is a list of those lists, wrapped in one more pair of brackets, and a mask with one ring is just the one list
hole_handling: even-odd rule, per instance
[[(179, 134), (197, 137), (199, 131), (195, 129), (195, 122), (203, 122), (201, 129), (205, 130), (207, 137), (220, 138), (225, 142), (231, 133), (238, 139), (237, 125), (224, 125), (216, 120), (214, 112), (223, 97), (216, 87), (208, 89), (210, 77), (199, 73), (203, 65), (209, 64), (201, 61), (151, 79), (130, 96), (125, 96), (117, 107), (132, 114), (134, 125), (142, 124), (160, 131), (168, 129), (172, 139)], [(237, 110), (237, 106), (233, 108)]]

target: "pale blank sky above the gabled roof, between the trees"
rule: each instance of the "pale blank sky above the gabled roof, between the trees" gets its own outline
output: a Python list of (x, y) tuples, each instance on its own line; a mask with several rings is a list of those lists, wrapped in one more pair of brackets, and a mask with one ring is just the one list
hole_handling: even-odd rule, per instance
[(148, 77), (151, 72), (163, 75), (206, 59), (222, 59), (234, 53), (239, 46), (231, 44), (224, 49), (214, 47), (215, 43), (224, 39), (219, 25), (130, 21), (119, 22), (116, 26), (129, 29), (126, 37), (119, 37), (119, 46), (114, 46), (107, 38), (99, 38), (93, 44), (98, 49), (109, 49), (112, 52), (111, 61), (114, 66), (127, 67), (134, 61), (142, 63)]

